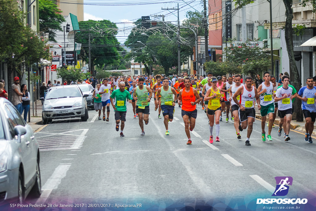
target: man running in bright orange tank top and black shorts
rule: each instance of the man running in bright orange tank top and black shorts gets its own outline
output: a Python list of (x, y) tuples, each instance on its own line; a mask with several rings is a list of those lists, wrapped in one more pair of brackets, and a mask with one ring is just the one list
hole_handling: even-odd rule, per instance
[[(188, 142), (186, 144), (192, 144), (190, 131), (193, 131), (195, 127), (195, 119), (197, 118), (197, 109), (195, 105), (200, 101), (200, 96), (197, 90), (193, 89), (190, 84), (190, 78), (186, 77), (184, 79), (185, 89), (179, 92), (178, 103), (182, 102), (181, 115), (185, 124), (185, 133), (188, 137)], [(195, 101), (195, 99), (197, 99)]]

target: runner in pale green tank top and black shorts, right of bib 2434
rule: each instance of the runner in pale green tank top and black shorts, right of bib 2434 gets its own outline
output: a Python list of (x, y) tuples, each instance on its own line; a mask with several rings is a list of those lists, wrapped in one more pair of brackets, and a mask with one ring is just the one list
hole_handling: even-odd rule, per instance
[(142, 129), (141, 135), (145, 135), (143, 121), (145, 121), (146, 125), (148, 124), (149, 102), (150, 102), (151, 95), (153, 94), (149, 86), (144, 86), (144, 81), (145, 81), (144, 78), (142, 77), (138, 78), (138, 86), (134, 88), (133, 90), (134, 102), (137, 101), (136, 113), (138, 116), (138, 122), (139, 122), (140, 128)]

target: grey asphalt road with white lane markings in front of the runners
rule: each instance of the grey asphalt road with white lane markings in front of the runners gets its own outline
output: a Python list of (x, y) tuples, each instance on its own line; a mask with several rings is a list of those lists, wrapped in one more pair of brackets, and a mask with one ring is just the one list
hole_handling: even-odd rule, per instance
[[(263, 142), (261, 121), (256, 120), (252, 146), (245, 146), (247, 131), (241, 132), (238, 140), (229, 120), (220, 122), (220, 142), (210, 144), (208, 119), (199, 106), (192, 145), (186, 145), (177, 105), (169, 136), (165, 135), (163, 119), (157, 118), (154, 103), (150, 113), (145, 136), (140, 136), (131, 104), (125, 137), (119, 137), (115, 130), (112, 108), (110, 122), (98, 120), (97, 112), (89, 110), (87, 122), (53, 122), (36, 133), (43, 189), (37, 203), (269, 198), (276, 176), (293, 177), (286, 197), (315, 198), (316, 140), (308, 144), (303, 134), (290, 131), (291, 140), (285, 142), (283, 136), (277, 136), (276, 127), (273, 141)], [(27, 200), (36, 202), (32, 197)]]

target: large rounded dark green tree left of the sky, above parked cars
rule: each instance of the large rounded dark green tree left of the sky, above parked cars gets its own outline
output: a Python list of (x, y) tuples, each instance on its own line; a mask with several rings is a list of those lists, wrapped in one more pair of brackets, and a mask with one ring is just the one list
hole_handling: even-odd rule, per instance
[(91, 27), (99, 24), (98, 28), (117, 28), (116, 24), (108, 21), (80, 21), (79, 28), (80, 32), (76, 33), (76, 42), (81, 43), (80, 56), (86, 62), (89, 62), (89, 33), (90, 33), (90, 45), (91, 45), (91, 71), (94, 71), (94, 66), (99, 65), (103, 67), (104, 65), (118, 64), (121, 56), (119, 51), (123, 49), (116, 37), (112, 33), (99, 33), (90, 31)]

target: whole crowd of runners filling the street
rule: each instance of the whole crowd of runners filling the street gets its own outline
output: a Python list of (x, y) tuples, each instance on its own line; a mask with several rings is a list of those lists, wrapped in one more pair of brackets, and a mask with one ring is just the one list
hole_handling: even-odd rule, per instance
[[(186, 144), (192, 143), (190, 131), (195, 127), (197, 109), (204, 110), (209, 119), (210, 139), (213, 143), (213, 127), (215, 123), (214, 138), (220, 141), (220, 121), (230, 120), (234, 122), (236, 138), (241, 139), (240, 132), (247, 129), (246, 146), (251, 146), (250, 136), (253, 122), (255, 121), (255, 107), (260, 110), (262, 121), (262, 141), (272, 141), (271, 131), (275, 127), (273, 122), (276, 114), (280, 117), (277, 135), (283, 135), (284, 141), (289, 141), (290, 123), (293, 113), (295, 98), (302, 101), (301, 108), (306, 120), (305, 140), (313, 143), (312, 133), (316, 119), (316, 87), (313, 78), (306, 79), (306, 86), (298, 92), (289, 84), (289, 77), (283, 75), (278, 83), (275, 76), (264, 72), (264, 80), (256, 88), (252, 77), (243, 79), (239, 74), (213, 77), (211, 72), (207, 76), (197, 78), (187, 72), (182, 77), (173, 78), (161, 75), (134, 78), (104, 78), (102, 84), (97, 83), (94, 90), (94, 108), (99, 112), (99, 120), (109, 121), (110, 104), (114, 109), (116, 121), (115, 129), (120, 130), (120, 136), (124, 137), (123, 130), (126, 121), (126, 103), (132, 104), (134, 118), (138, 117), (141, 135), (145, 135), (144, 123), (149, 123), (149, 103), (154, 97), (155, 111), (158, 110), (158, 118), (161, 114), (164, 118), (166, 135), (169, 135), (168, 122), (173, 121), (174, 107), (178, 104), (185, 125), (185, 133), (188, 138)], [(260, 79), (261, 80), (261, 79)], [(103, 118), (101, 118), (103, 112)], [(223, 115), (224, 118), (223, 118)], [(268, 117), (268, 131), (266, 136), (265, 123)]]

